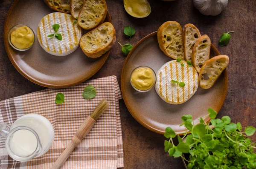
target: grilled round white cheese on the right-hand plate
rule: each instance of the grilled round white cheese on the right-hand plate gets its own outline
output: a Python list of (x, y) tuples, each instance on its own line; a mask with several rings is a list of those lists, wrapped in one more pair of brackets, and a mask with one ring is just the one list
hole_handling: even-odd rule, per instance
[[(184, 65), (182, 65), (182, 64)], [(177, 82), (184, 82), (185, 86), (180, 87)], [(157, 72), (155, 85), (157, 94), (167, 103), (181, 104), (189, 100), (198, 89), (198, 74), (193, 66), (186, 61), (176, 60), (165, 63)]]

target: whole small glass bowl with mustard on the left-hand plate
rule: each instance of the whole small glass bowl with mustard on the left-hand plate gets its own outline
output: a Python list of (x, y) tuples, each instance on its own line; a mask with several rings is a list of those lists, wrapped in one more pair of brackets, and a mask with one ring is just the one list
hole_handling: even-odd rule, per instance
[(35, 32), (27, 25), (17, 24), (8, 32), (9, 44), (18, 51), (26, 51), (35, 43)]

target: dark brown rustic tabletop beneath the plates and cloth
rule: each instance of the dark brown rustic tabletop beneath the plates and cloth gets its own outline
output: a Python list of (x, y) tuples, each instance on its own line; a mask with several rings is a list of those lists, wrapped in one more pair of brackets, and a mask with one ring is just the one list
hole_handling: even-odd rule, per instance
[[(218, 117), (229, 115), (243, 126), (256, 127), (256, 0), (230, 0), (227, 9), (218, 16), (204, 16), (193, 6), (193, 0), (163, 2), (148, 0), (151, 14), (143, 19), (131, 17), (125, 12), (122, 0), (106, 0), (116, 29), (116, 40), (135, 45), (147, 34), (154, 32), (168, 21), (175, 20), (184, 26), (193, 23), (201, 34), (207, 34), (221, 54), (230, 57), (228, 92)], [(23, 77), (10, 62), (3, 43), (3, 25), (6, 14), (14, 0), (0, 0), (0, 99), (24, 95), (45, 89)], [(123, 33), (131, 26), (136, 34), (128, 40)], [(231, 34), (230, 43), (218, 46), (222, 33)], [(119, 84), (125, 56), (120, 46), (111, 49), (102, 69), (92, 78), (116, 75)], [(124, 143), (124, 169), (184, 169), (180, 158), (168, 157), (164, 152), (164, 137), (140, 125), (120, 102), (122, 134)], [(157, 113), (157, 112), (156, 112)], [(256, 141), (256, 136), (252, 137)]]

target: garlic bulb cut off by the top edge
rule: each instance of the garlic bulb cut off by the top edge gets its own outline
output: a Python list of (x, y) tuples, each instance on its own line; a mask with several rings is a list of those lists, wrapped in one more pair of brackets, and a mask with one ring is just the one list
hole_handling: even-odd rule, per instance
[(216, 16), (227, 7), (228, 0), (194, 0), (194, 6), (201, 14)]

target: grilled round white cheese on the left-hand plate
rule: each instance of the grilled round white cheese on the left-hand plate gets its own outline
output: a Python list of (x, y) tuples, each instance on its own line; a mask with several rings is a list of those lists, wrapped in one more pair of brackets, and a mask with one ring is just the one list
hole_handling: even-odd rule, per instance
[[(79, 47), (79, 40), (82, 36), (82, 30), (77, 23), (73, 23), (75, 19), (70, 14), (54, 12), (47, 14), (39, 23), (37, 29), (38, 41), (42, 48), (49, 54), (56, 56), (65, 56), (71, 54)], [(47, 37), (54, 34), (52, 25), (59, 24), (59, 34), (62, 40), (56, 37)]]

